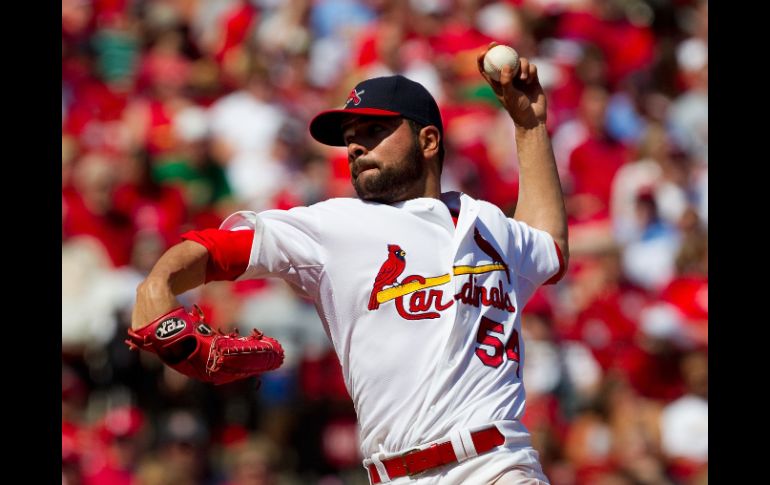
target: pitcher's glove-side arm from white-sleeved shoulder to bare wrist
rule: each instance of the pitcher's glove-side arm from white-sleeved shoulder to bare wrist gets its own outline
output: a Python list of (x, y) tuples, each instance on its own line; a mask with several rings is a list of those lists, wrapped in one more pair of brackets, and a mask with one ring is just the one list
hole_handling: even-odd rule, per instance
[(314, 288), (306, 270), (322, 259), (316, 219), (307, 208), (238, 212), (220, 229), (183, 234), (185, 241), (165, 252), (137, 288), (131, 327), (178, 308), (177, 295), (209, 281), (277, 276), (302, 291)]

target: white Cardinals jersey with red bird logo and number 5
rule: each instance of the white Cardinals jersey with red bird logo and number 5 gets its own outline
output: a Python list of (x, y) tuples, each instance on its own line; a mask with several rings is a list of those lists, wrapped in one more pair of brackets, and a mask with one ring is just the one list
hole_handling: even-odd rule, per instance
[(506, 438), (528, 437), (520, 315), (560, 273), (558, 249), (492, 204), (457, 192), (441, 199), (330, 199), (237, 212), (221, 226), (254, 230), (239, 280), (279, 277), (315, 303), (364, 456), (498, 421), (508, 422)]

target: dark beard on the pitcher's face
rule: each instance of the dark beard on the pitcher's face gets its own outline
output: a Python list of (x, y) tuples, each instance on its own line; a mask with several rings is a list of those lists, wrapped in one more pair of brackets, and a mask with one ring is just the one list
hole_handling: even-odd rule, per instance
[[(376, 160), (373, 162), (377, 163)], [(368, 175), (365, 180), (361, 180), (360, 174), (351, 178), (358, 198), (383, 204), (404, 200), (425, 172), (425, 163), (418, 144), (413, 143), (411, 153), (398, 164), (382, 167), (382, 164), (377, 163), (377, 170), (376, 175)]]

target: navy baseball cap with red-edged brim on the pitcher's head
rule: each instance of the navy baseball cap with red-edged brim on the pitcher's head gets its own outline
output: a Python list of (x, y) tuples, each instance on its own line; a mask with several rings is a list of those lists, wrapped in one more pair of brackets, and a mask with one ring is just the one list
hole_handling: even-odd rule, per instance
[(350, 115), (403, 116), (423, 125), (438, 128), (443, 138), (444, 125), (433, 96), (411, 79), (395, 76), (362, 81), (350, 91), (345, 107), (322, 111), (310, 122), (310, 134), (325, 145), (345, 146), (342, 122)]

